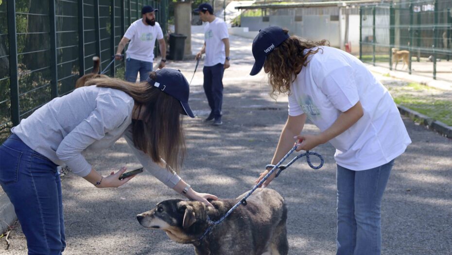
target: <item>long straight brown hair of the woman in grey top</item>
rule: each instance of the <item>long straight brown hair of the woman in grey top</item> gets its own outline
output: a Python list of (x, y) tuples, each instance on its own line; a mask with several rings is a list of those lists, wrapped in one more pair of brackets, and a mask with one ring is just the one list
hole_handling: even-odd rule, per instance
[[(156, 79), (156, 73), (150, 77)], [(135, 147), (169, 171), (179, 173), (185, 157), (185, 137), (182, 128), (183, 111), (179, 100), (149, 85), (148, 82), (130, 83), (116, 78), (96, 78), (85, 86), (112, 88), (126, 92), (141, 110), (142, 120), (132, 120)], [(135, 112), (133, 113), (135, 115)]]

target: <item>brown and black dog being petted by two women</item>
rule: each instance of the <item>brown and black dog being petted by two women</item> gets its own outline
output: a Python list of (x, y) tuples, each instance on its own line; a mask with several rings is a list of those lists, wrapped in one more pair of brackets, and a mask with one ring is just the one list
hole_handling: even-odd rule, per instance
[[(247, 193), (247, 192), (246, 192)], [(273, 189), (258, 188), (203, 239), (208, 218), (223, 217), (246, 193), (237, 199), (211, 201), (165, 200), (153, 210), (137, 215), (146, 228), (160, 229), (178, 243), (193, 244), (196, 255), (286, 255), (289, 251), (284, 199)]]

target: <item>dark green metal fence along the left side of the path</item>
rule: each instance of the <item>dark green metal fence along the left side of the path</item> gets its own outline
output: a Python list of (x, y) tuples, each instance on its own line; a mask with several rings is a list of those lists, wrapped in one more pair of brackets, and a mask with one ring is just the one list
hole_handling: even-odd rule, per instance
[[(0, 143), (21, 119), (72, 91), (92, 70), (93, 56), (104, 71), (143, 5), (159, 9), (166, 34), (167, 1), (0, 0)], [(115, 61), (105, 74), (122, 67)]]

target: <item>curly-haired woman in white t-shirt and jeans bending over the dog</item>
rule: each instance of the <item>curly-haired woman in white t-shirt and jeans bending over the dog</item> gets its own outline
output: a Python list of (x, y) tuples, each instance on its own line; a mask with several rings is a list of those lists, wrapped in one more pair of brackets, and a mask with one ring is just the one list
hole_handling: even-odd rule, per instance
[[(380, 254), (382, 195), (394, 159), (411, 143), (391, 95), (359, 59), (328, 47), (325, 40), (304, 40), (268, 27), (256, 36), (252, 50), (256, 63), (250, 74), (263, 67), (272, 95), (289, 96), (289, 117), (272, 164), (295, 141), (301, 141), (297, 150), (330, 142), (337, 163), (337, 254)], [(306, 118), (321, 133), (300, 134)]]

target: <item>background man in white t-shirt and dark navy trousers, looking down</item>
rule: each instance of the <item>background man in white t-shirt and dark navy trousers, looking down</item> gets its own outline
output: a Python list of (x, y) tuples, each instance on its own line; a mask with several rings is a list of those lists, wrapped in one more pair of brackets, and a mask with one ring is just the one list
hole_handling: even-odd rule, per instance
[(213, 120), (213, 125), (222, 125), (221, 107), (223, 105), (223, 74), (229, 64), (229, 35), (225, 21), (213, 15), (209, 3), (202, 3), (193, 12), (199, 14), (204, 27), (204, 45), (196, 59), (206, 53), (204, 59), (204, 92), (209, 102), (210, 114), (206, 121)]

